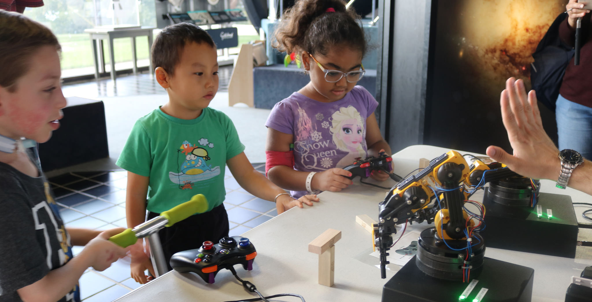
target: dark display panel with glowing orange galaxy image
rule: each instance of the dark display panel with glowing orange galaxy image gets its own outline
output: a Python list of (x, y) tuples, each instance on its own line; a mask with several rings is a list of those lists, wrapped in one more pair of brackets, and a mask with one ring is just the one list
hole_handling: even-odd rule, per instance
[[(524, 79), (530, 89), (532, 53), (565, 4), (435, 0), (424, 143), (479, 153), (496, 144), (511, 153), (500, 93), (510, 76)], [(556, 141), (555, 114), (540, 110), (545, 130)]]

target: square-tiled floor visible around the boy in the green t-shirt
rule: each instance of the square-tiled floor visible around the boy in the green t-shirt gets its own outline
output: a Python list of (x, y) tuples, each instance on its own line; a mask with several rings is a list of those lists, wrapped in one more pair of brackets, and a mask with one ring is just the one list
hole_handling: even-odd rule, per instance
[[(265, 164), (253, 163), (265, 173)], [(66, 227), (109, 229), (126, 225), (126, 171), (69, 173), (49, 179)], [(240, 235), (277, 215), (275, 204), (261, 200), (237, 184), (226, 168), (224, 207), (230, 220), (230, 236)], [(76, 246), (74, 253), (82, 247)], [(85, 302), (108, 302), (140, 287), (130, 278), (130, 260), (120, 259), (105, 271), (89, 268), (80, 279)]]

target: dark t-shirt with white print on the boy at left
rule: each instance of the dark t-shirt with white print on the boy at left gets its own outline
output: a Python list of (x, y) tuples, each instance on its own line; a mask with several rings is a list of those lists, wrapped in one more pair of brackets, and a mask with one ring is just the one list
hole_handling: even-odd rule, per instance
[[(30, 154), (31, 155), (31, 154)], [(30, 156), (33, 158), (33, 156)], [(39, 171), (41, 171), (38, 161)], [(21, 301), (17, 290), (72, 259), (49, 183), (0, 162), (0, 301)], [(80, 301), (78, 284), (59, 300)]]

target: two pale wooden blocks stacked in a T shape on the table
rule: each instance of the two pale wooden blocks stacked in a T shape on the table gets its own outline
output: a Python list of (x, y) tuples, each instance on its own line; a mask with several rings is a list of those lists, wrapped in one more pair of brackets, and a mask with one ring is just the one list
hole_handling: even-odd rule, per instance
[(341, 231), (328, 229), (308, 243), (308, 252), (318, 254), (318, 284), (333, 286), (335, 243), (339, 239), (341, 239)]

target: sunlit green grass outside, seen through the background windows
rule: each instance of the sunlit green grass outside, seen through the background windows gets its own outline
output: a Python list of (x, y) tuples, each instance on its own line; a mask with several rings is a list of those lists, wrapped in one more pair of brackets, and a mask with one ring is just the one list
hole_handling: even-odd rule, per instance
[[(257, 40), (259, 36), (239, 36), (239, 45)], [(75, 69), (94, 66), (92, 47), (89, 34), (59, 34), (57, 39), (62, 44), (62, 69)], [(110, 63), (106, 41), (105, 64)], [(114, 40), (115, 62), (131, 61), (131, 38), (117, 38)], [(237, 52), (237, 51), (236, 51)], [(233, 49), (230, 50), (230, 53)], [(148, 37), (136, 37), (137, 59), (148, 59)]]

